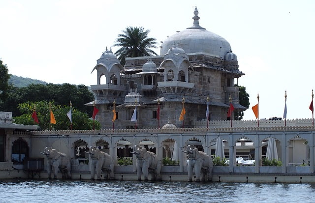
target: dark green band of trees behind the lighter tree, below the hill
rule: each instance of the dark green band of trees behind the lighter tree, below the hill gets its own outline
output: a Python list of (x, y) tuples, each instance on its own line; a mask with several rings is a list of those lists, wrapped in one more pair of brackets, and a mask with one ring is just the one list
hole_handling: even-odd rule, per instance
[(73, 107), (83, 113), (92, 116), (93, 108), (84, 104), (94, 100), (93, 93), (87, 86), (70, 84), (31, 84), (27, 87), (10, 87), (8, 98), (3, 104), (3, 110), (12, 112), (13, 116), (20, 116), (18, 105), (25, 102), (54, 101), (55, 105), (69, 106), (70, 101)]

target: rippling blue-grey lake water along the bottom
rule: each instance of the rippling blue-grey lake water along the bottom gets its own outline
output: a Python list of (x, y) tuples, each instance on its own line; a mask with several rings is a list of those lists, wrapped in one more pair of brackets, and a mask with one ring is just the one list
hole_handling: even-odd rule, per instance
[(1, 203), (314, 202), (315, 184), (0, 180)]

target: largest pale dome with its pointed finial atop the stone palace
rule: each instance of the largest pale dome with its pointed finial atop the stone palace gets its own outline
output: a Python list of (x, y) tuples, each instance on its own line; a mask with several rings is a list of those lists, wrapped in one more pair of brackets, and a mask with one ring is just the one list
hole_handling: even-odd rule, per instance
[(167, 54), (167, 51), (174, 47), (174, 44), (186, 54), (204, 53), (210, 56), (224, 58), (224, 55), (231, 50), (230, 44), (221, 36), (210, 32), (199, 26), (197, 7), (192, 18), (193, 25), (168, 37), (161, 45), (160, 56)]

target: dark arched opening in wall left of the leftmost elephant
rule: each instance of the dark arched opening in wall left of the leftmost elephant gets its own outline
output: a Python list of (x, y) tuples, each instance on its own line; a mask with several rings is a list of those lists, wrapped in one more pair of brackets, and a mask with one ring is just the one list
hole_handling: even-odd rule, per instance
[(28, 142), (19, 138), (12, 143), (11, 160), (13, 164), (23, 164), (25, 158), (30, 157), (30, 147)]

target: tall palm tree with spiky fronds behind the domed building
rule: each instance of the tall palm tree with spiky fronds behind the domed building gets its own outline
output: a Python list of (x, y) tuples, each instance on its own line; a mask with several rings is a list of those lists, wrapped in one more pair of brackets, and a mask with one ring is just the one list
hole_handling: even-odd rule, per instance
[(144, 57), (157, 55), (150, 48), (158, 48), (156, 38), (149, 38), (149, 29), (144, 30), (142, 27), (127, 27), (123, 30), (124, 34), (119, 34), (113, 46), (121, 48), (115, 52), (122, 65), (125, 65), (126, 57)]

